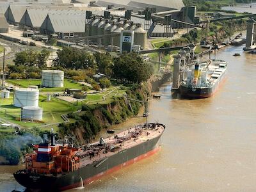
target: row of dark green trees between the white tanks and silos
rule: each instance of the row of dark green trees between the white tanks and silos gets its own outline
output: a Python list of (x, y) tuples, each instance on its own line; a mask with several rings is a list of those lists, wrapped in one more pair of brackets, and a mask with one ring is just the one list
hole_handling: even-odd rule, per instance
[[(13, 62), (6, 71), (12, 79), (36, 79), (41, 77), (41, 71), (46, 68), (50, 52), (28, 50), (15, 55)], [(64, 47), (58, 50), (58, 57), (52, 61), (52, 69), (65, 71), (65, 76), (75, 81), (92, 81), (88, 76), (96, 73), (106, 75), (127, 83), (141, 83), (146, 81), (153, 73), (150, 64), (145, 63), (138, 54), (120, 54), (113, 57), (109, 52), (95, 52), (90, 54), (84, 50)], [(87, 81), (88, 80), (88, 81)], [(94, 83), (95, 84), (95, 83)], [(101, 87), (108, 87), (109, 81), (105, 78), (100, 82)]]

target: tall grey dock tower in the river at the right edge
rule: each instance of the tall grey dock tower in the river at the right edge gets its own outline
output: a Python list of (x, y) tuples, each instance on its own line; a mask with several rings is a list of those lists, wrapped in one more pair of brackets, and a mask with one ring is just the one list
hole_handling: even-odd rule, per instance
[(256, 48), (256, 20), (247, 20), (247, 31), (246, 31), (246, 44), (244, 51)]

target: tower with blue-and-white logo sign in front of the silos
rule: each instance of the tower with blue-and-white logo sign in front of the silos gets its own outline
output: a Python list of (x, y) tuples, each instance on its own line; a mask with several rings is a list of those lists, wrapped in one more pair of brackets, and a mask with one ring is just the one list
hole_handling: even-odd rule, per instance
[(134, 31), (122, 31), (120, 36), (120, 53), (131, 52), (134, 42)]

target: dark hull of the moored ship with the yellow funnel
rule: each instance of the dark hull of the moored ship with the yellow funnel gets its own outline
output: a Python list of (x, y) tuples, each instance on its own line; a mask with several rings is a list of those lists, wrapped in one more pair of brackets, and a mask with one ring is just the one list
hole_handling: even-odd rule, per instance
[(201, 87), (191, 87), (180, 85), (180, 95), (184, 98), (193, 98), (193, 99), (204, 99), (207, 97), (212, 97), (220, 88), (221, 84), (223, 84), (226, 80), (226, 72), (222, 74), (219, 81), (208, 88)]

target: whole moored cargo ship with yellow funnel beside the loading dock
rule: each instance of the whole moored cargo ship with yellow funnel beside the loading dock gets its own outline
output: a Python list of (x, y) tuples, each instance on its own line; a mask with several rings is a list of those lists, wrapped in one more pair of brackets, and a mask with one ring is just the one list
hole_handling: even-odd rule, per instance
[(225, 80), (226, 74), (226, 61), (198, 62), (194, 69), (186, 70), (186, 78), (180, 84), (180, 95), (195, 99), (211, 97)]

